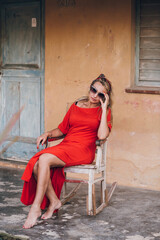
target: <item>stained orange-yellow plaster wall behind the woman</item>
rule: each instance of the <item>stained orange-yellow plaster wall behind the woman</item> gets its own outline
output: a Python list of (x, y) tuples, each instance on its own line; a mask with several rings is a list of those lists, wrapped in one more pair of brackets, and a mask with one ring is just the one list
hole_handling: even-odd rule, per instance
[(131, 2), (76, 0), (60, 8), (46, 0), (45, 18), (45, 129), (57, 127), (66, 103), (104, 73), (114, 101), (107, 181), (160, 190), (159, 96), (125, 92), (134, 77)]

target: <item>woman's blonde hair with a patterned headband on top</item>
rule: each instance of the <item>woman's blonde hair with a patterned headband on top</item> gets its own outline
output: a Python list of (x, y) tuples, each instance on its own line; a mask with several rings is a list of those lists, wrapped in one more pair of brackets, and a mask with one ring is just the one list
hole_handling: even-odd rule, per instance
[(108, 107), (111, 107), (111, 105), (112, 105), (112, 99), (111, 99), (112, 85), (111, 85), (110, 81), (105, 77), (104, 74), (100, 74), (95, 80), (92, 81), (90, 87), (93, 86), (96, 82), (100, 82), (104, 86), (104, 88), (106, 89), (106, 92), (109, 96)]

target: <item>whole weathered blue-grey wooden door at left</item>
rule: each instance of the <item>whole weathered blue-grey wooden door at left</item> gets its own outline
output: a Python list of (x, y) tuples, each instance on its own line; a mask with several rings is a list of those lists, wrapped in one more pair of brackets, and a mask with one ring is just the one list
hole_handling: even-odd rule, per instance
[(12, 115), (25, 106), (2, 158), (24, 160), (36, 153), (35, 140), (43, 131), (44, 43), (43, 6), (39, 1), (0, 1), (0, 132)]

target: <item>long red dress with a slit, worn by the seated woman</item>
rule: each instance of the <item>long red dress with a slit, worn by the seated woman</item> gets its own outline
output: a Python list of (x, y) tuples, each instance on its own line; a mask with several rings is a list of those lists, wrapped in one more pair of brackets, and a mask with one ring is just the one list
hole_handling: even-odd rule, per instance
[[(50, 153), (57, 156), (66, 163), (65, 167), (90, 164), (95, 157), (95, 142), (97, 140), (97, 130), (101, 119), (101, 108), (80, 108), (73, 103), (66, 113), (62, 123), (58, 128), (63, 134), (66, 134), (61, 143), (56, 146), (46, 148), (36, 153), (28, 162), (22, 175), (24, 180), (21, 201), (25, 205), (33, 203), (36, 193), (36, 181), (33, 177), (34, 164), (43, 153)], [(111, 110), (107, 114), (108, 127), (111, 129)], [(61, 189), (65, 181), (64, 168), (52, 168), (50, 177), (52, 186), (60, 198)], [(49, 204), (46, 196), (41, 204), (41, 209), (45, 209)]]

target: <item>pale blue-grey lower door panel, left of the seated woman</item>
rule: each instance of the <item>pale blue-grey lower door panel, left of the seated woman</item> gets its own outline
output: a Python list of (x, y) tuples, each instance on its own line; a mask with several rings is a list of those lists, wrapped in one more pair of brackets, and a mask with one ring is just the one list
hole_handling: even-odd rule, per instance
[(22, 106), (20, 120), (10, 135), (36, 138), (40, 135), (40, 80), (38, 78), (3, 77), (4, 122)]

